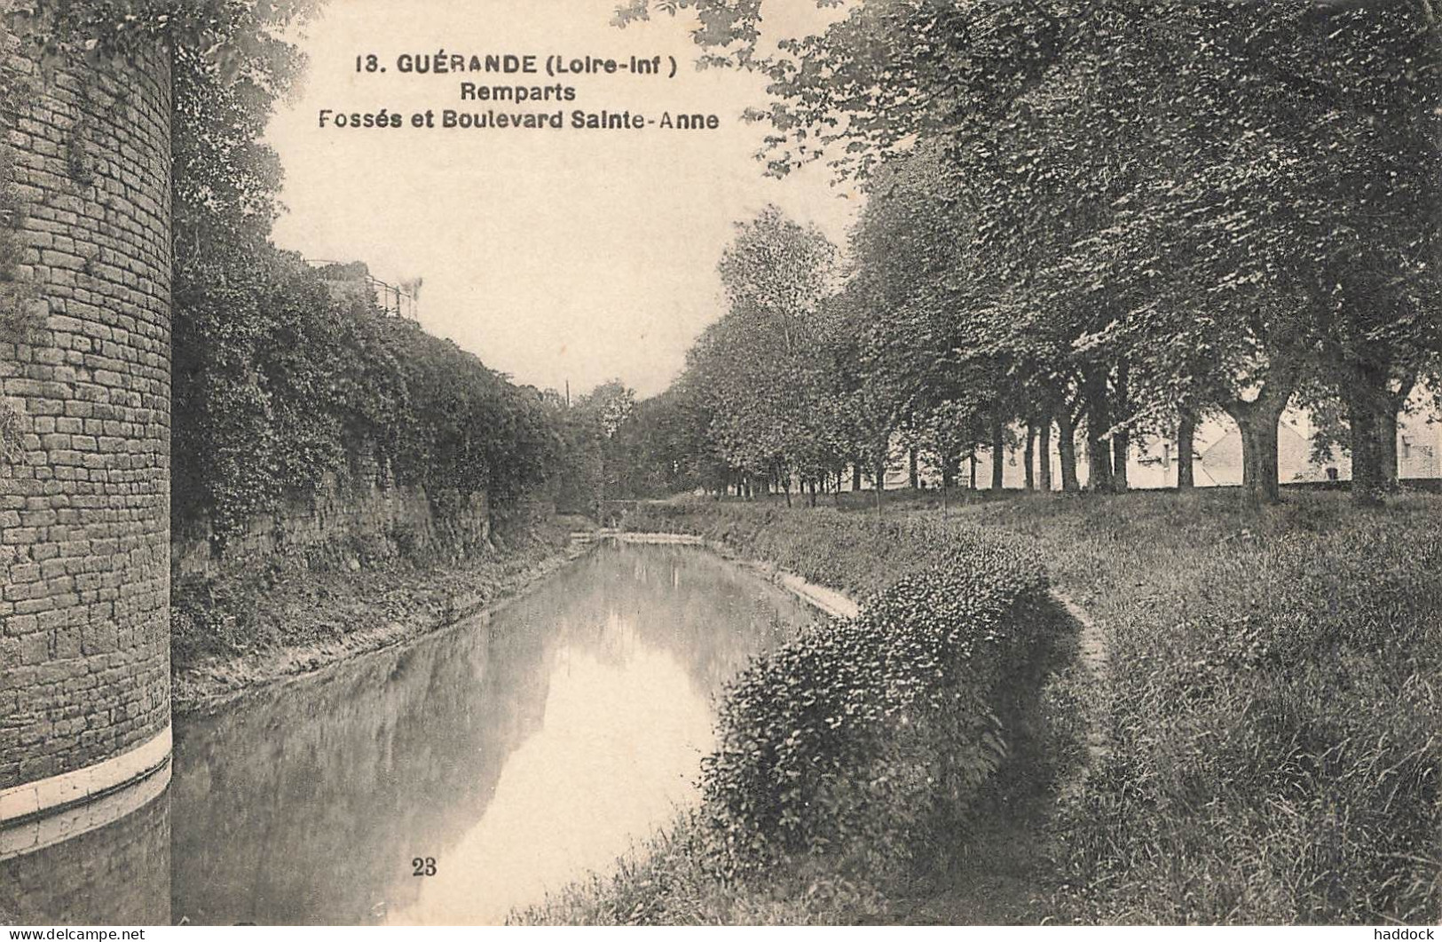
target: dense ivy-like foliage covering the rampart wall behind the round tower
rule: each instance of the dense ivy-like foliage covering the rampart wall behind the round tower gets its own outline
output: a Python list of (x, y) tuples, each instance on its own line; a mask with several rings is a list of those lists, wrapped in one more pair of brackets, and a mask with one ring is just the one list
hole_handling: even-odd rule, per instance
[[(176, 525), (224, 540), (329, 477), (421, 485), (438, 505), (499, 501), (555, 452), (539, 398), (450, 340), (342, 304), (293, 255), (176, 294)], [(244, 278), (244, 280), (242, 280)]]

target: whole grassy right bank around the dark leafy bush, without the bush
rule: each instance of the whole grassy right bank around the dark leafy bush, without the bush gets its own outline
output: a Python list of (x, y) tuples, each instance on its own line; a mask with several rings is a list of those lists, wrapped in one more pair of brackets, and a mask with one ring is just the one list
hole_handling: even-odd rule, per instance
[[(1024, 750), (1040, 754), (1015, 766), (1040, 773), (900, 871), (803, 858), (718, 884), (688, 821), (525, 920), (1442, 919), (1442, 498), (1360, 511), (1337, 493), (1275, 508), (1227, 492), (1012, 495), (943, 519), (936, 495), (911, 493), (880, 527), (867, 495), (846, 498), (643, 505), (627, 525), (699, 534), (854, 596), (924, 567), (937, 528), (1024, 547), (1107, 648), (1099, 678), (1031, 679)], [(1106, 752), (1061, 798), (1050, 785), (1082, 756), (1083, 711)], [(1019, 828), (986, 827), (1008, 814)], [(986, 866), (968, 866), (978, 855)], [(996, 864), (1019, 877), (998, 886)]]

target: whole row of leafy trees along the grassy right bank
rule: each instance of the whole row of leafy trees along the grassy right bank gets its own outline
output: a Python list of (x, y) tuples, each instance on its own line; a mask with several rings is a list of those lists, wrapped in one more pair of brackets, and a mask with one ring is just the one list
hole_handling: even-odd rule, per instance
[(1079, 436), (1093, 489), (1126, 488), (1141, 434), (1180, 440), (1187, 485), (1226, 414), (1276, 499), (1302, 405), (1357, 499), (1394, 483), (1442, 351), (1428, 0), (861, 0), (770, 56), (760, 3), (665, 6), (770, 76), (773, 173), (825, 159), (868, 188), (845, 263), (774, 209), (738, 228), (728, 312), (669, 394), (695, 469), (815, 482), (900, 436), (949, 473), (989, 447), (999, 476), (1022, 427), (1067, 489)]

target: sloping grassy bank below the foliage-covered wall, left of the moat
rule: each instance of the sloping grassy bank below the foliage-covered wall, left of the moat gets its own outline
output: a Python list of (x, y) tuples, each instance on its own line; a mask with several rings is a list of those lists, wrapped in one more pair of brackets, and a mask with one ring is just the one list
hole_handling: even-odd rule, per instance
[(497, 529), (493, 551), (470, 558), (410, 551), (352, 571), (337, 560), (356, 558), (355, 547), (317, 547), (176, 580), (173, 708), (211, 708), (450, 625), (562, 565), (568, 531), (548, 515), (523, 515)]

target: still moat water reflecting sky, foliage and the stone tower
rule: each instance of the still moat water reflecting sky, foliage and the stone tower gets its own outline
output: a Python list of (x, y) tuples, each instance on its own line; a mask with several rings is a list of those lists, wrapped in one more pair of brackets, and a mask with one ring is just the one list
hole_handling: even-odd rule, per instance
[(166, 795), (0, 886), (23, 922), (502, 922), (692, 802), (715, 694), (812, 617), (702, 550), (604, 545), (497, 612), (177, 720)]

